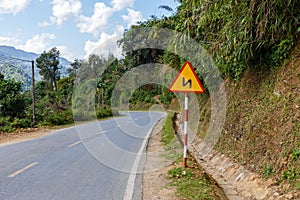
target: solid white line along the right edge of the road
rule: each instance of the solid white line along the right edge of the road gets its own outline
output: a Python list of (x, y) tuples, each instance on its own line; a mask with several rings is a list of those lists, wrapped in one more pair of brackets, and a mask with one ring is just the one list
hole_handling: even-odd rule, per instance
[[(159, 119), (160, 120), (160, 119)], [(155, 124), (153, 124), (153, 126), (150, 128), (150, 130), (148, 131), (146, 137), (144, 138), (144, 141), (141, 145), (141, 148), (139, 149), (137, 156), (134, 160), (134, 163), (132, 165), (131, 168), (131, 172), (127, 181), (127, 186), (126, 186), (126, 190), (123, 196), (123, 200), (132, 200), (133, 197), (133, 192), (134, 192), (134, 185), (135, 185), (135, 179), (136, 179), (136, 175), (137, 175), (137, 171), (138, 171), (138, 167), (139, 167), (139, 163), (142, 157), (142, 153), (143, 150), (145, 149), (145, 146), (147, 145), (147, 141), (153, 131), (154, 126), (159, 122), (159, 120), (157, 120), (157, 122)]]

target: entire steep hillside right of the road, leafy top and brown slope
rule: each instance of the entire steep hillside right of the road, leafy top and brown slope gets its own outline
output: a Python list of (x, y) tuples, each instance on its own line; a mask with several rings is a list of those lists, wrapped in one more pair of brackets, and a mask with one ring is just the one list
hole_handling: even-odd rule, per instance
[[(132, 29), (169, 28), (205, 47), (224, 77), (228, 97), (217, 148), (263, 177), (274, 178), (284, 190), (299, 190), (300, 2), (180, 2), (173, 16), (153, 17)], [(169, 52), (155, 55), (152, 60), (176, 69), (185, 61)], [(211, 115), (209, 91), (199, 100), (198, 134), (203, 136)]]

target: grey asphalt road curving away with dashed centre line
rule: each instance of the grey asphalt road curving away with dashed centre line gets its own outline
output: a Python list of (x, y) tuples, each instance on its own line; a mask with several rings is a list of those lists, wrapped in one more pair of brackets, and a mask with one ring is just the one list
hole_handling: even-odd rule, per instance
[(141, 199), (140, 153), (164, 115), (130, 112), (1, 146), (0, 199)]

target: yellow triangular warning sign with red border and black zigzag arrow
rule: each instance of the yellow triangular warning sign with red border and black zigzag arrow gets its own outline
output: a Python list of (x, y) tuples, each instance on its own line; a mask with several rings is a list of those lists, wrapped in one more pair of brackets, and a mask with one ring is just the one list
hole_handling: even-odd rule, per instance
[(183, 64), (176, 78), (173, 80), (173, 83), (170, 85), (169, 91), (197, 94), (204, 93), (204, 87), (190, 62)]

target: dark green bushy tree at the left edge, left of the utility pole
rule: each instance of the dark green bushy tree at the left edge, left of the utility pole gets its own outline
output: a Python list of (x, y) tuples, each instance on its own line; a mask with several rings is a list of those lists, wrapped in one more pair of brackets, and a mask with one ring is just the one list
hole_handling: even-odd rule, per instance
[(0, 115), (4, 117), (21, 117), (24, 115), (25, 97), (22, 83), (5, 80), (0, 74)]

